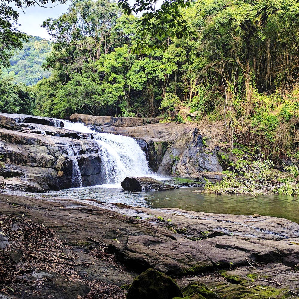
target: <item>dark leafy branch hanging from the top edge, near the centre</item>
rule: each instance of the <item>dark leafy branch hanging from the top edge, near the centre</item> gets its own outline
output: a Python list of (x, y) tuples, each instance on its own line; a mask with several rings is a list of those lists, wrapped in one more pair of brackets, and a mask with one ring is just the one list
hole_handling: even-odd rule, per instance
[[(170, 38), (182, 38), (192, 35), (190, 24), (184, 18), (184, 9), (192, 5), (192, 0), (166, 0), (160, 6), (157, 0), (137, 0), (130, 4), (119, 0), (118, 6), (123, 13), (142, 16), (138, 19), (137, 41), (133, 52), (139, 54), (152, 49), (165, 49), (164, 41)], [(159, 7), (160, 6), (160, 7)]]

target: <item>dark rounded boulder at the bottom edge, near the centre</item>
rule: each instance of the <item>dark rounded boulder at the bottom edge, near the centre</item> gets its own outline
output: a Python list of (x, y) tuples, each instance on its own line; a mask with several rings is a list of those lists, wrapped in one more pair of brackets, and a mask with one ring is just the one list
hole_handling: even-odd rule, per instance
[(183, 297), (176, 282), (162, 272), (147, 269), (133, 280), (126, 298), (172, 299), (174, 297)]

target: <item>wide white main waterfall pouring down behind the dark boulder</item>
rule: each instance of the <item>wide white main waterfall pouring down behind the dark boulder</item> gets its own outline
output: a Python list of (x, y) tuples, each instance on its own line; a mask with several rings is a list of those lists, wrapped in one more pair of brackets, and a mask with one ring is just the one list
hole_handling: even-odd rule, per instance
[(98, 144), (106, 184), (120, 184), (127, 176), (153, 176), (146, 156), (134, 138), (97, 133), (83, 123), (63, 122), (64, 129), (92, 133)]

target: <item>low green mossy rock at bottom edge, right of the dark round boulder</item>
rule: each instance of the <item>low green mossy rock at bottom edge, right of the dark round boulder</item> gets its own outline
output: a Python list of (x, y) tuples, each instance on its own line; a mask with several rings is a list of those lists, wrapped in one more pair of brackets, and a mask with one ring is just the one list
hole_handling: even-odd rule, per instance
[[(204, 283), (192, 282), (183, 289), (184, 299), (219, 299)], [(173, 299), (183, 299), (175, 297)]]

